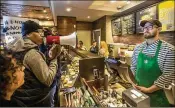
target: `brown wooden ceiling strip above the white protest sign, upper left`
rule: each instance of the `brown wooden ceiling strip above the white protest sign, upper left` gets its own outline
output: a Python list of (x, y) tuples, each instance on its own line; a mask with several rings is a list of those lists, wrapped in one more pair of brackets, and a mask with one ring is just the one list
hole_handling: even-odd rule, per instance
[[(19, 15), (21, 15), (23, 18), (53, 20), (49, 7), (1, 3), (0, 9), (1, 18), (2, 16), (19, 17)], [(44, 10), (46, 10), (46, 12), (44, 12)]]

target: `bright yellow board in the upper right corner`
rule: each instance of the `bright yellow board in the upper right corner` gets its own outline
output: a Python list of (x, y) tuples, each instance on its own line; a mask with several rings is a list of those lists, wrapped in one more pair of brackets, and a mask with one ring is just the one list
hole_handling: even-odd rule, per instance
[(164, 1), (158, 5), (159, 21), (162, 23), (162, 31), (175, 31), (174, 29), (174, 1)]

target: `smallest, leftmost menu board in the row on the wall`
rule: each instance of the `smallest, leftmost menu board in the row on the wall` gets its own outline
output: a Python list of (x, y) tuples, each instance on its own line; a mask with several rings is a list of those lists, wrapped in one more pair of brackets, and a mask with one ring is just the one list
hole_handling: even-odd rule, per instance
[(112, 35), (121, 35), (122, 34), (122, 25), (121, 18), (112, 20)]

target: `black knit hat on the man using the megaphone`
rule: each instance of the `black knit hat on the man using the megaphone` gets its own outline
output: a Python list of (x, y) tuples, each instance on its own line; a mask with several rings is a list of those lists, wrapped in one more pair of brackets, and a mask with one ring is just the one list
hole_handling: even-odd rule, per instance
[(21, 28), (22, 36), (24, 37), (31, 32), (37, 32), (38, 29), (42, 29), (42, 27), (38, 23), (28, 20), (22, 23), (22, 28)]

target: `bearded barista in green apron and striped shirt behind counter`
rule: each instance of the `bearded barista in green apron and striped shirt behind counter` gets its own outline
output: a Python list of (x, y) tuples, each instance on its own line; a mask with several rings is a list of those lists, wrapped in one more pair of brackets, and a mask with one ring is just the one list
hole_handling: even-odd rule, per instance
[(162, 24), (159, 20), (142, 20), (145, 41), (134, 49), (131, 71), (137, 85), (134, 87), (150, 97), (151, 107), (169, 107), (163, 89), (175, 80), (174, 46), (160, 40)]

